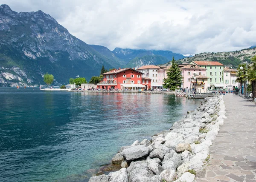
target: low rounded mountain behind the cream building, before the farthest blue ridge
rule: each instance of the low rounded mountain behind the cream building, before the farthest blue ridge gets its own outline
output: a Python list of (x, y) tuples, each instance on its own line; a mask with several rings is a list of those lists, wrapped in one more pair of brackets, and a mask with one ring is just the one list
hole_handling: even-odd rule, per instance
[(125, 66), (126, 68), (139, 68), (144, 65), (159, 65), (169, 62), (166, 57), (153, 55), (153, 56), (143, 56), (143, 57), (135, 57), (133, 60), (129, 61), (129, 63)]

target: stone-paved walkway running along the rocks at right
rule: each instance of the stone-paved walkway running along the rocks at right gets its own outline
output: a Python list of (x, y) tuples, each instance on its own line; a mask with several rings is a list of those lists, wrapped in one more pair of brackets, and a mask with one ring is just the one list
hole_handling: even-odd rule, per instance
[(224, 95), (224, 102), (227, 119), (196, 182), (256, 182), (256, 104), (236, 95)]

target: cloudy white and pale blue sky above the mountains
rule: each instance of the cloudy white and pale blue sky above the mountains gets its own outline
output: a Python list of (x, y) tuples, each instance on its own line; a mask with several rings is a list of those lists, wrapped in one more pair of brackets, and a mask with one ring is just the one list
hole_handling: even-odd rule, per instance
[(256, 45), (256, 0), (0, 0), (44, 11), (87, 44), (184, 55)]

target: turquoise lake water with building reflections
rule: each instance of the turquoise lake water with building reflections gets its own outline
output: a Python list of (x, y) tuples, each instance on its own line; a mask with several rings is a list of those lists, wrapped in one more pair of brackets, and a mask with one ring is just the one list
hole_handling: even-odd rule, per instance
[(0, 88), (0, 181), (87, 182), (121, 146), (168, 130), (201, 100)]

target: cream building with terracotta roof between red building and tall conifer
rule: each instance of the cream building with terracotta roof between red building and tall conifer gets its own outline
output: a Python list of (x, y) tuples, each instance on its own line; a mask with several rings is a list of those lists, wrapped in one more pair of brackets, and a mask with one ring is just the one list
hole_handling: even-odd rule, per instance
[[(161, 85), (160, 82), (158, 82), (158, 78), (157, 78), (157, 71), (160, 69), (159, 66), (155, 66), (155, 65), (145, 65), (145, 66), (142, 66), (140, 68), (137, 68), (138, 71), (144, 73), (143, 74), (143, 78), (144, 77), (147, 77), (147, 78), (150, 78), (151, 79), (151, 89), (154, 89), (154, 88), (160, 88)], [(148, 87), (149, 88), (149, 87)]]

